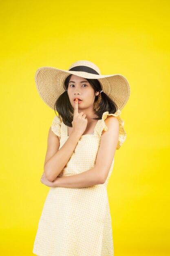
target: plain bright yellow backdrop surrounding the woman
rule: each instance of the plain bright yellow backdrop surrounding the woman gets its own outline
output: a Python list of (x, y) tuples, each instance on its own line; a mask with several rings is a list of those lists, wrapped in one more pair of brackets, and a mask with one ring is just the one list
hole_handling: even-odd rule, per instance
[(170, 255), (169, 10), (165, 0), (1, 1), (1, 255), (33, 255), (49, 191), (40, 177), (55, 112), (35, 72), (78, 60), (131, 88), (108, 184), (115, 256)]

